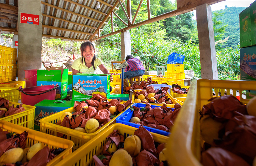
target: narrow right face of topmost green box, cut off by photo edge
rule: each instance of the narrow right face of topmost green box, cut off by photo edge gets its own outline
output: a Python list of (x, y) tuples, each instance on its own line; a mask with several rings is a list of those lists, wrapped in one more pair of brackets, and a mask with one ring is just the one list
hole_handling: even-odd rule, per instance
[(256, 44), (256, 1), (254, 1), (250, 6), (251, 12), (251, 39), (252, 39), (252, 46)]

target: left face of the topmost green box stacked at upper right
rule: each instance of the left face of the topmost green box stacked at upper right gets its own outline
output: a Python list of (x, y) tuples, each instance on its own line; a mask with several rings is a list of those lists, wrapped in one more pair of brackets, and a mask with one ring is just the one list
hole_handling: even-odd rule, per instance
[(252, 35), (251, 35), (251, 12), (250, 7), (244, 9), (239, 14), (240, 22), (240, 47), (247, 47), (252, 45)]

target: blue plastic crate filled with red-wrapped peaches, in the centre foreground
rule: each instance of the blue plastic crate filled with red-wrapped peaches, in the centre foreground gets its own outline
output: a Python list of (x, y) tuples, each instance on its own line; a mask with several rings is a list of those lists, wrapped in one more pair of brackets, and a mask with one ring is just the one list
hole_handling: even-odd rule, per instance
[[(141, 109), (141, 107), (146, 107), (146, 104), (143, 104), (143, 103), (135, 103), (133, 104), (132, 106), (135, 106), (135, 107), (138, 107)], [(155, 105), (151, 105), (152, 109), (153, 108), (156, 108), (156, 107), (161, 107), (161, 106), (155, 106)], [(171, 108), (172, 111), (174, 110), (174, 108)], [(140, 125), (139, 124), (136, 124), (136, 123), (131, 123), (130, 120), (131, 118), (133, 117), (133, 111), (128, 108), (124, 113), (122, 113), (119, 117), (117, 117), (115, 120), (116, 120), (116, 123), (122, 123), (124, 125), (128, 125), (128, 126), (132, 126), (132, 127), (135, 127), (135, 128), (139, 128)], [(161, 134), (161, 135), (164, 135), (164, 136), (168, 136), (170, 133), (166, 132), (166, 131), (163, 131), (163, 130), (159, 130), (159, 129), (155, 129), (155, 128), (151, 128), (151, 127), (147, 127), (147, 126), (144, 126), (148, 131), (152, 132), (152, 133), (157, 133), (157, 134)]]

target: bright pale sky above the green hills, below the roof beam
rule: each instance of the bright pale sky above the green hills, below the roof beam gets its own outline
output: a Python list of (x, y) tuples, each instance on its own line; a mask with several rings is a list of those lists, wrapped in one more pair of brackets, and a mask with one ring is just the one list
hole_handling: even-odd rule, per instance
[[(175, 0), (171, 0), (171, 1), (174, 2)], [(250, 4), (254, 1), (255, 0), (226, 0), (226, 1), (218, 2), (216, 4), (210, 5), (210, 7), (212, 8), (212, 11), (225, 9), (225, 5), (227, 5), (227, 7), (233, 7), (233, 6), (249, 7)], [(196, 20), (196, 10), (194, 10), (193, 12), (194, 12), (193, 20)]]

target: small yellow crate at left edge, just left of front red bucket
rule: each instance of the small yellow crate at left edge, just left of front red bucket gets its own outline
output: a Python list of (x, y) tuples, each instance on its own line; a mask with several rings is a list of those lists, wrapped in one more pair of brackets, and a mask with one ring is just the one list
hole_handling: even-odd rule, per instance
[(0, 97), (18, 103), (19, 91), (17, 88), (0, 88)]

